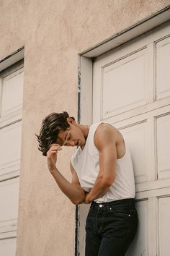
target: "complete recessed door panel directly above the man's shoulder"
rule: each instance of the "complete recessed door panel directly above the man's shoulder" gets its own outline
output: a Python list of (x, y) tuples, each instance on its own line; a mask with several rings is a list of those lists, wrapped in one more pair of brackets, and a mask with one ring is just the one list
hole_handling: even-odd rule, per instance
[(139, 49), (102, 67), (102, 119), (146, 104), (146, 53)]

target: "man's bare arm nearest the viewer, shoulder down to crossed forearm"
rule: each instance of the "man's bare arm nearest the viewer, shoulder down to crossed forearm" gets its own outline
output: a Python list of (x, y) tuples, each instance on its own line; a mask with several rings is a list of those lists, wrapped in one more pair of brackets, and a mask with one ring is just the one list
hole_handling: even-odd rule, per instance
[(101, 124), (94, 135), (94, 144), (99, 150), (99, 174), (85, 202), (92, 202), (107, 193), (115, 182), (116, 135), (108, 124)]

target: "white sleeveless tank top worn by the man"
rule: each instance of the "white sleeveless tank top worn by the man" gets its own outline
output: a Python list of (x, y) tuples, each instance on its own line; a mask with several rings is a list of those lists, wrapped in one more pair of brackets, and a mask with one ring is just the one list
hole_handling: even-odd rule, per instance
[[(99, 174), (99, 150), (94, 145), (94, 133), (101, 123), (102, 121), (91, 125), (84, 148), (77, 148), (71, 157), (71, 163), (79, 177), (81, 187), (86, 192), (89, 192), (94, 186)], [(135, 197), (133, 163), (126, 143), (125, 149), (125, 155), (116, 161), (115, 182), (109, 188), (109, 191), (95, 202), (110, 202)]]

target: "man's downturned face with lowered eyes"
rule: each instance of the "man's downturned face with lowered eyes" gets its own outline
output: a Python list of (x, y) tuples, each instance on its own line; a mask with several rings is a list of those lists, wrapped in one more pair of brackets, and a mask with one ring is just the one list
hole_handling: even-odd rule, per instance
[(58, 133), (57, 143), (61, 146), (80, 146), (84, 147), (85, 137), (81, 129), (74, 124), (70, 124), (70, 127), (66, 131), (60, 131)]

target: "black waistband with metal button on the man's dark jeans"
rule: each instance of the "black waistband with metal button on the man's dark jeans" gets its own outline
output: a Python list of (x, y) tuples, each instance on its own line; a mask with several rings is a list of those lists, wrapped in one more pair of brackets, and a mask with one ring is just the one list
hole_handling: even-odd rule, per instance
[(122, 200), (115, 200), (110, 202), (91, 202), (90, 208), (102, 208), (103, 206), (112, 205), (135, 205), (135, 198), (125, 198)]

